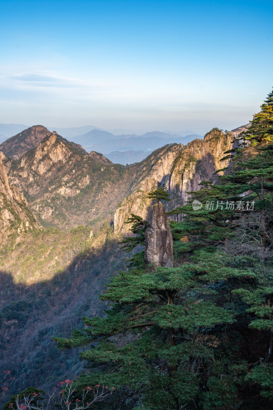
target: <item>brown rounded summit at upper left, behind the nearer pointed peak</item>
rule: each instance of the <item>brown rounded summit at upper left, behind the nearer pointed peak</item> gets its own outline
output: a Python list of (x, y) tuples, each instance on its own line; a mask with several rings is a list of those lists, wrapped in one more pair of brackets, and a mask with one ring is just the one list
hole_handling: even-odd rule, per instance
[[(57, 135), (55, 131), (53, 131), (53, 133)], [(49, 134), (50, 131), (46, 127), (35, 125), (2, 142), (0, 151), (3, 151), (4, 154), (10, 158), (19, 159), (32, 148), (37, 147)], [(60, 135), (57, 136), (59, 139), (69, 142)], [(80, 151), (85, 151), (80, 145), (74, 142), (70, 142), (70, 144)]]

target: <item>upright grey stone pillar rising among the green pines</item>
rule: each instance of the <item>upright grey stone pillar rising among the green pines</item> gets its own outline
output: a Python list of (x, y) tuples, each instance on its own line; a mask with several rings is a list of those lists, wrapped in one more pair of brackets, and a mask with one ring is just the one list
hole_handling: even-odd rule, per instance
[(161, 202), (152, 209), (145, 231), (144, 258), (148, 264), (173, 267), (173, 237), (167, 214)]

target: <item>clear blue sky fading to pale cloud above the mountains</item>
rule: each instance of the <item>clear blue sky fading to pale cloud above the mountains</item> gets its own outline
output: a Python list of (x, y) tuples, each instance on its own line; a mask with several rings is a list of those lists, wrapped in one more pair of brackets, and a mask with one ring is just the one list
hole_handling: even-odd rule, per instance
[(273, 2), (0, 1), (0, 123), (233, 129), (273, 86)]

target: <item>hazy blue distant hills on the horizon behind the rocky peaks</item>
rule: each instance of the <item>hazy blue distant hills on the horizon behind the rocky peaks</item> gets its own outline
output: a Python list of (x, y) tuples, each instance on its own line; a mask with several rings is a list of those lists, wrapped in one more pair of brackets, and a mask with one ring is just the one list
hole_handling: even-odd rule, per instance
[[(16, 136), (17, 138), (19, 133), (22, 133), (22, 136), (24, 136), (24, 130), (27, 128), (27, 126), (22, 124), (0, 124), (0, 144), (3, 145), (3, 147), (8, 144), (12, 152), (6, 150), (7, 155), (12, 156), (14, 150), (18, 155), (23, 147), (18, 148), (16, 146), (15, 149), (12, 140), (9, 142), (4, 141), (11, 136)], [(46, 134), (50, 131), (55, 131), (57, 135), (61, 135), (70, 141), (73, 140), (73, 142), (81, 145), (88, 152), (101, 152), (111, 161), (121, 163), (122, 165), (141, 161), (148, 156), (149, 153), (166, 144), (177, 143), (186, 145), (196, 138), (201, 138), (200, 135), (193, 131), (179, 131), (177, 133), (172, 131), (149, 131), (142, 135), (137, 135), (130, 130), (115, 129), (110, 132), (109, 130), (96, 128), (93, 125), (71, 128), (43, 128), (46, 130)], [(44, 134), (43, 137), (45, 137)], [(39, 142), (40, 140), (41, 138), (39, 138)], [(20, 138), (18, 141), (20, 141)], [(23, 145), (25, 143), (26, 141), (24, 140)]]

